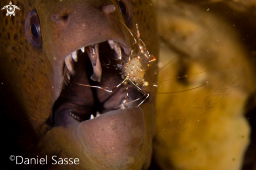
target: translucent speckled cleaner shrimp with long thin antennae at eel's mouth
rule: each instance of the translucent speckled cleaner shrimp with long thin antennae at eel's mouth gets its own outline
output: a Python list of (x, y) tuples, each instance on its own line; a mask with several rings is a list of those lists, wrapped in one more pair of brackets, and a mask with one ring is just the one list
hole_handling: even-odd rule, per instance
[[(122, 21), (121, 21), (122, 22)], [(135, 101), (138, 101), (140, 99), (142, 99), (143, 97), (143, 100), (139, 103), (138, 107), (144, 103), (144, 101), (150, 96), (149, 93), (146, 92), (146, 90), (143, 89), (143, 87), (145, 86), (148, 86), (149, 85), (149, 82), (145, 80), (144, 78), (144, 75), (146, 74), (147, 70), (150, 69), (151, 65), (153, 64), (153, 62), (156, 60), (156, 58), (149, 53), (147, 47), (146, 47), (146, 44), (142, 41), (142, 39), (140, 38), (140, 32), (139, 32), (139, 28), (138, 28), (138, 24), (136, 24), (136, 29), (137, 29), (137, 39), (133, 36), (132, 34), (132, 30), (130, 30), (123, 22), (122, 24), (128, 29), (128, 31), (130, 32), (132, 38), (134, 39), (134, 43), (133, 43), (133, 47), (132, 47), (132, 50), (131, 50), (131, 53), (130, 53), (130, 56), (129, 56), (129, 59), (128, 59), (128, 62), (126, 62), (125, 64), (121, 64), (121, 65), (117, 65), (118, 69), (121, 70), (120, 74), (121, 74), (121, 77), (124, 79), (123, 82), (119, 83), (118, 85), (114, 86), (111, 90), (108, 90), (107, 87), (104, 88), (104, 87), (99, 87), (99, 86), (92, 86), (92, 85), (85, 85), (85, 84), (80, 84), (80, 83), (76, 83), (78, 85), (82, 85), (82, 86), (87, 86), (87, 87), (95, 87), (95, 88), (99, 88), (99, 89), (103, 89), (105, 90), (106, 92), (109, 92), (109, 93), (112, 93), (113, 90), (115, 90), (116, 88), (118, 88), (119, 86), (121, 86), (122, 84), (124, 85), (127, 85), (128, 83), (132, 84), (141, 94), (142, 96), (135, 99), (135, 100), (132, 100), (132, 101), (127, 101), (128, 99), (128, 86), (126, 87), (126, 97), (125, 99), (123, 100), (122, 104), (120, 105), (121, 108), (125, 108), (125, 105), (128, 105), (130, 103), (133, 103)], [(134, 32), (133, 32), (134, 33)], [(206, 32), (207, 34), (208, 32)], [(206, 35), (205, 34), (205, 35)], [(204, 36), (203, 36), (204, 37)], [(202, 38), (203, 38), (202, 37)], [(202, 39), (201, 38), (201, 39)], [(199, 39), (200, 40), (200, 39)], [(199, 41), (198, 40), (198, 41)], [(196, 42), (195, 42), (196, 43)], [(136, 48), (136, 45), (138, 46), (139, 50), (138, 52), (135, 51), (135, 48)], [(192, 45), (193, 46), (193, 45)], [(192, 47), (191, 46), (191, 47)], [(190, 47), (188, 47), (187, 49), (189, 49)], [(186, 49), (186, 50), (187, 50)], [(186, 51), (185, 50), (185, 51)], [(184, 52), (184, 51), (183, 51)], [(181, 53), (182, 54), (182, 53)], [(181, 55), (180, 54), (180, 55)], [(174, 59), (176, 59), (177, 57), (179, 57), (180, 55), (176, 56)], [(173, 59), (173, 60), (174, 60)], [(170, 63), (170, 62), (169, 62)], [(168, 63), (168, 64), (169, 64)], [(166, 65), (168, 65), (166, 64)], [(166, 66), (165, 65), (165, 66)], [(163, 67), (161, 68), (163, 69)], [(160, 70), (161, 70), (160, 69)], [(160, 71), (158, 70), (158, 71)], [(157, 71), (157, 72), (158, 72)], [(157, 72), (155, 72), (153, 75), (157, 74)], [(151, 76), (153, 76), (151, 75)], [(150, 76), (150, 77), (151, 77)], [(149, 77), (149, 78), (150, 78)], [(159, 83), (159, 82), (157, 82)], [(208, 82), (206, 82), (208, 83)], [(195, 88), (199, 88), (199, 87), (202, 87), (204, 86), (206, 83), (204, 83), (203, 85), (201, 86), (198, 86), (198, 87), (195, 87)], [(154, 87), (161, 87), (159, 85), (155, 85), (155, 84), (152, 84), (152, 86)], [(191, 89), (187, 89), (187, 90), (192, 90), (192, 89), (195, 89), (195, 88), (191, 88)], [(183, 90), (183, 91), (179, 91), (179, 92), (184, 92), (184, 91), (187, 91), (187, 90)], [(179, 92), (168, 92), (166, 94), (170, 94), (170, 93), (179, 93)], [(145, 97), (146, 96), (146, 97)]]

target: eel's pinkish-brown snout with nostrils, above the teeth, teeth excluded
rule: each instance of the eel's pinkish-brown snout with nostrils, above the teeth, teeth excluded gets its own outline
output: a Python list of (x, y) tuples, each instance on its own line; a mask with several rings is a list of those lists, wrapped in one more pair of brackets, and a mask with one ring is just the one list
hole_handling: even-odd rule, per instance
[(120, 43), (124, 52), (130, 53), (130, 33), (121, 24), (124, 19), (112, 1), (61, 4), (52, 10), (48, 19), (55, 56), (64, 58), (71, 51), (107, 40)]

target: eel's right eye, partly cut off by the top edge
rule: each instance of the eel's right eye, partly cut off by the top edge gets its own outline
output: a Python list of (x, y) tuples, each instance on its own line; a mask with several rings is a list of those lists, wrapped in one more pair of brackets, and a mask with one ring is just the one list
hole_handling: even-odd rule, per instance
[(119, 7), (120, 12), (123, 15), (125, 24), (127, 27), (131, 25), (132, 21), (132, 6), (129, 0), (116, 0), (116, 3)]

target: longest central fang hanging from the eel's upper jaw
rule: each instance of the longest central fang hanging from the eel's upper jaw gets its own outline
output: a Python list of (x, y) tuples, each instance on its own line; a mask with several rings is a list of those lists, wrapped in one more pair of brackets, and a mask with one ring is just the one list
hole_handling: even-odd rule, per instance
[(87, 49), (88, 56), (93, 65), (93, 75), (91, 76), (91, 80), (101, 82), (102, 66), (99, 61), (98, 44), (95, 44), (94, 47), (88, 46)]

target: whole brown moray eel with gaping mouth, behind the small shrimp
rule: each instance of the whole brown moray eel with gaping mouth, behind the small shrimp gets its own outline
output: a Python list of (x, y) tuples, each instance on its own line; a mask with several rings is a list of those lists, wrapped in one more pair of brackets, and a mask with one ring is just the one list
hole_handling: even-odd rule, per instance
[[(0, 16), (1, 79), (21, 106), (20, 114), (26, 114), (34, 129), (39, 141), (34, 145), (48, 156), (44, 167), (147, 169), (155, 131), (155, 88), (144, 89), (150, 97), (140, 107), (134, 107), (138, 101), (120, 109), (126, 87), (130, 101), (142, 96), (131, 84), (108, 93), (76, 83), (109, 88), (121, 83), (121, 71), (116, 70), (116, 65), (129, 58), (134, 39), (127, 27), (136, 37), (136, 24), (148, 51), (158, 59), (157, 25), (151, 2), (12, 3), (20, 8), (16, 16), (7, 17), (6, 10)], [(3, 7), (9, 1), (0, 4)], [(156, 69), (157, 62), (145, 78)], [(153, 76), (148, 81), (155, 79)], [(2, 100), (8, 97), (2, 96)], [(101, 116), (96, 117), (98, 113)], [(79, 165), (52, 165), (54, 155), (55, 160), (79, 158)]]

